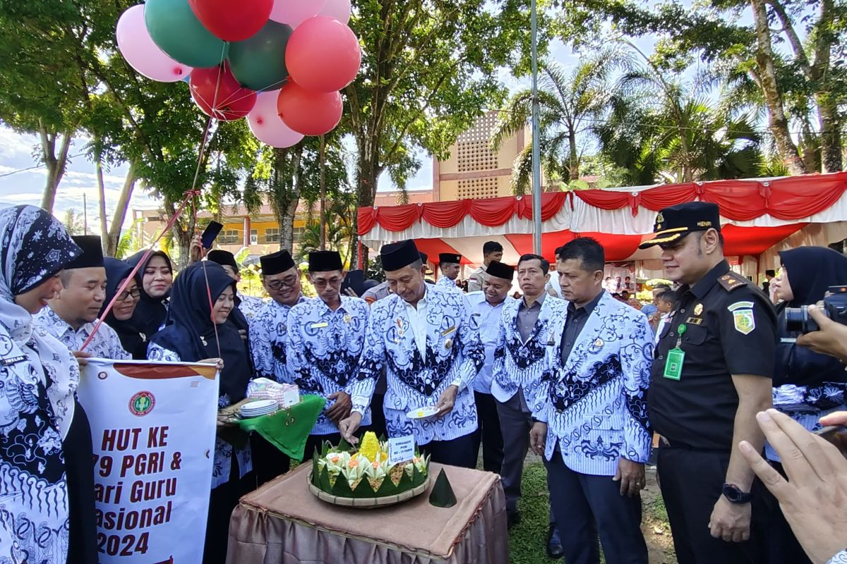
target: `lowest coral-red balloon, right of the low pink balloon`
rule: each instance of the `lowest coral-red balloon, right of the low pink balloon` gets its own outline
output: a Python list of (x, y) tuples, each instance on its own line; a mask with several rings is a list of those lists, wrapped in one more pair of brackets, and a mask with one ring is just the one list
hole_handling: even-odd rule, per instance
[(291, 80), (276, 101), (285, 125), (304, 135), (323, 135), (335, 129), (343, 107), (339, 92), (313, 92)]

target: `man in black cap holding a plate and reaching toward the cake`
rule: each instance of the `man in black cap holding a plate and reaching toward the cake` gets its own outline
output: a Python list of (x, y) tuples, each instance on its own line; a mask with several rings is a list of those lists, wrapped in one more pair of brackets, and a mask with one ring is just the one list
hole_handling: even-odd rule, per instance
[[(412, 240), (383, 246), (380, 257), (392, 294), (371, 306), (357, 376), (368, 390), (353, 397), (352, 413), (339, 425), (341, 434), (356, 441), (352, 434), (385, 364), (388, 435), (413, 435), (435, 462), (474, 468), (473, 379), (484, 349), (471, 326), (468, 303), (462, 293), (424, 282), (424, 265)], [(435, 413), (420, 417), (419, 408), (435, 408)]]

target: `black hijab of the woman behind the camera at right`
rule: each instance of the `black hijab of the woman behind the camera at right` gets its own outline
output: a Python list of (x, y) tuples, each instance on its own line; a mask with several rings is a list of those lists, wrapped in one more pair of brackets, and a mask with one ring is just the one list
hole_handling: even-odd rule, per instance
[(779, 258), (788, 271), (794, 293), (786, 306), (816, 304), (830, 286), (847, 284), (847, 256), (827, 247), (798, 247), (783, 250)]

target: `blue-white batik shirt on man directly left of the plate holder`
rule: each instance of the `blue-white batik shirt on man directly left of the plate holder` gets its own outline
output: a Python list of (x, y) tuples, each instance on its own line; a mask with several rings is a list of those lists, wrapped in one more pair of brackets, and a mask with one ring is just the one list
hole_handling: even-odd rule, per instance
[[(323, 299), (315, 298), (297, 304), (288, 315), (287, 376), (301, 393), (328, 397), (335, 392), (346, 392), (353, 397), (363, 393), (357, 392), (357, 388), (368, 386), (356, 379), (368, 325), (368, 304), (362, 298), (340, 296), (340, 299), (335, 311)], [(331, 402), (327, 404), (329, 407)], [(370, 409), (363, 413), (363, 424), (370, 424)], [(324, 411), (311, 434), (337, 432), (338, 427)]]

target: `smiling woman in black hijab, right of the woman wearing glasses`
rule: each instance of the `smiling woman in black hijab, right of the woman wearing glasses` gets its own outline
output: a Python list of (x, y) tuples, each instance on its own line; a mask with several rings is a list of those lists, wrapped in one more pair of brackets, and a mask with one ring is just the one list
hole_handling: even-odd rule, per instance
[[(126, 262), (135, 267), (147, 251), (138, 251)], [(162, 328), (168, 315), (170, 289), (174, 284), (174, 266), (163, 250), (150, 254), (136, 272), (140, 301), (133, 323), (149, 339)]]

